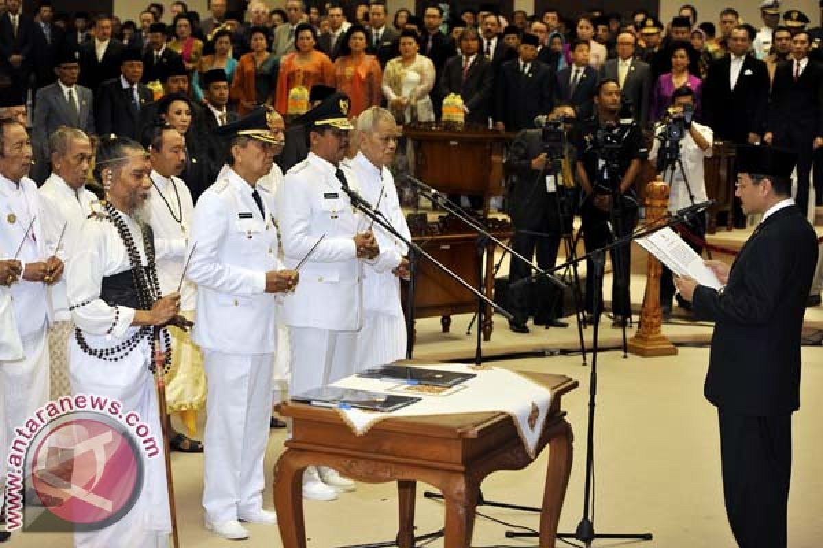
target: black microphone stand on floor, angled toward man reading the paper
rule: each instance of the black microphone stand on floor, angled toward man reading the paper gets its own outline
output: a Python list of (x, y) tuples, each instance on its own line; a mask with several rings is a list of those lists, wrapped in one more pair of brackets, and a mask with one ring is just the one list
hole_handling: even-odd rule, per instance
[[(710, 202), (704, 202), (706, 208), (709, 207)], [(609, 242), (606, 246), (602, 246), (599, 249), (593, 250), (590, 253), (580, 256), (574, 261), (568, 261), (565, 265), (560, 265), (556, 267), (556, 269), (564, 269), (567, 268), (570, 263), (572, 262), (579, 262), (583, 260), (592, 259), (594, 265), (593, 275), (594, 278), (594, 290), (598, 292), (597, 295), (594, 295), (593, 300), (593, 334), (592, 334), (592, 369), (589, 373), (589, 391), (588, 391), (588, 432), (586, 436), (586, 467), (585, 467), (585, 493), (584, 493), (584, 504), (583, 504), (583, 517), (580, 518), (580, 522), (577, 526), (577, 529), (574, 533), (558, 533), (557, 538), (574, 538), (584, 543), (586, 548), (590, 548), (592, 546), (592, 541), (594, 539), (622, 539), (622, 540), (638, 540), (638, 541), (650, 541), (652, 540), (652, 534), (649, 532), (646, 533), (636, 533), (636, 534), (614, 534), (614, 533), (595, 533), (594, 532), (594, 518), (593, 518), (593, 500), (594, 500), (594, 419), (595, 419), (595, 407), (597, 404), (597, 351), (598, 351), (598, 336), (599, 336), (599, 329), (598, 326), (600, 325), (600, 315), (601, 315), (601, 306), (598, 302), (598, 298), (600, 297), (599, 291), (602, 283), (602, 276), (603, 276), (603, 266), (606, 259), (607, 251), (611, 251), (612, 249), (616, 249), (617, 247), (621, 246), (628, 246), (630, 242), (635, 240), (635, 238), (646, 237), (649, 234), (656, 233), (658, 230), (667, 227), (673, 227), (679, 223), (685, 223), (686, 220), (692, 214), (699, 214), (700, 208), (687, 208), (686, 211), (678, 212), (678, 214), (674, 214), (668, 219), (660, 219), (654, 223), (650, 223), (645, 225), (639, 230), (628, 233), (623, 237), (617, 237), (611, 242)], [(542, 274), (535, 274), (532, 276), (532, 279), (539, 279)], [(540, 509), (535, 509), (537, 512)], [(512, 532), (507, 531), (505, 533), (506, 538), (521, 538), (521, 537), (531, 537), (537, 536), (531, 532)]]

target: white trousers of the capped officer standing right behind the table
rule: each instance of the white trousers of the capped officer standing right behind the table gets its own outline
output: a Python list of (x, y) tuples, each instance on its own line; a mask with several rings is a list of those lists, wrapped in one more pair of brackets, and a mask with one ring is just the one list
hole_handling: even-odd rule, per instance
[(290, 394), (302, 394), (356, 371), (356, 331), (290, 327)]

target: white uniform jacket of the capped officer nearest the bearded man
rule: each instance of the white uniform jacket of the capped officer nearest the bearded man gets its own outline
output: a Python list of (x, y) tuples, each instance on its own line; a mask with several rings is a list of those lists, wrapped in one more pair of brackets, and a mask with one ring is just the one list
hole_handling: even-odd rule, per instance
[(280, 269), (277, 230), (267, 191), (253, 188), (233, 169), (203, 192), (194, 207), (187, 276), (198, 284), (193, 340), (227, 354), (268, 354), (277, 347), (276, 297), (266, 292), (266, 273)]

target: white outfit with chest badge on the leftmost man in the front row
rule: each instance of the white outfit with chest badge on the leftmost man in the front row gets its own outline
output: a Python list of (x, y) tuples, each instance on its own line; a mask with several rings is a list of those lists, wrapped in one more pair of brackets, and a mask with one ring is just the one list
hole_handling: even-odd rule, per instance
[[(26, 263), (48, 259), (49, 251), (44, 228), (44, 208), (35, 182), (23, 177), (20, 184), (0, 175), (0, 250), (12, 259), (17, 249), (17, 260), (23, 268)], [(34, 223), (32, 223), (34, 219)], [(26, 230), (31, 225), (31, 230)], [(22, 245), (21, 245), (22, 242)], [(47, 333), (51, 319), (49, 294), (45, 283), (18, 279), (3, 292), (12, 302), (16, 332), (22, 343), (20, 359), (0, 361), (0, 390), (5, 421), (2, 424), (9, 444), (14, 439), (16, 426), (22, 426), (27, 417), (49, 401), (49, 348)], [(9, 334), (13, 339), (13, 334)], [(6, 338), (4, 334), (3, 338)], [(0, 458), (7, 457), (7, 445), (0, 449)]]

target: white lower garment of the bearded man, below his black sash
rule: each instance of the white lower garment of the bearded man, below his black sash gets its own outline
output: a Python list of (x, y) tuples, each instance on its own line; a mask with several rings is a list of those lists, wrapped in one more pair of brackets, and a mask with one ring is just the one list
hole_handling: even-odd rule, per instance
[[(127, 334), (128, 336), (128, 334)], [(92, 348), (102, 346), (102, 337), (90, 339)], [(68, 343), (68, 371), (74, 394), (96, 394), (123, 403), (123, 414), (137, 412), (151, 429), (158, 447), (163, 445), (160, 408), (151, 372), (148, 370), (151, 351), (143, 340), (120, 361), (101, 361), (83, 352), (75, 338)], [(138, 444), (141, 445), (141, 444)], [(169, 493), (165, 481), (165, 459), (162, 452), (148, 458), (143, 454), (145, 474), (143, 488), (132, 509), (117, 523), (92, 532), (75, 532), (77, 548), (165, 548), (169, 546), (171, 518)]]

